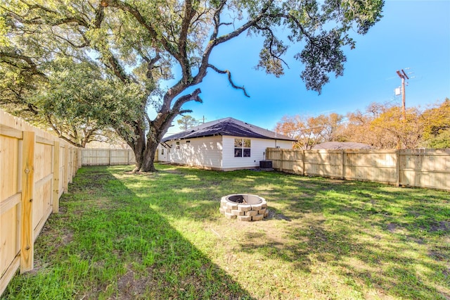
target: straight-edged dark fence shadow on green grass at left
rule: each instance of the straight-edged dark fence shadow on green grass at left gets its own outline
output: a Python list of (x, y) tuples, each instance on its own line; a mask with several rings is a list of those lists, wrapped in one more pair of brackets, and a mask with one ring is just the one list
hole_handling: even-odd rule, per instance
[(80, 169), (60, 207), (6, 299), (252, 299), (107, 168)]

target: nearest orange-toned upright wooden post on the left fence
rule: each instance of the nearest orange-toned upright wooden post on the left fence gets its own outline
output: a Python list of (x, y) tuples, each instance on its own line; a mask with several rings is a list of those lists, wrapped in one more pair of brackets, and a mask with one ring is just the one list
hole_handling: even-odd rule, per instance
[(20, 214), (20, 273), (33, 269), (33, 187), (34, 187), (34, 132), (23, 132), (22, 144), (22, 198)]

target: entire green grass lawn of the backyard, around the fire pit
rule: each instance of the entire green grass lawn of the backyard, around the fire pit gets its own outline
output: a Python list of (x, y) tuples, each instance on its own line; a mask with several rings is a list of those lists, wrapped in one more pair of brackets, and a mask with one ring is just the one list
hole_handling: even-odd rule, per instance
[[(276, 172), (78, 171), (2, 299), (450, 299), (450, 194)], [(221, 196), (263, 196), (229, 220)]]

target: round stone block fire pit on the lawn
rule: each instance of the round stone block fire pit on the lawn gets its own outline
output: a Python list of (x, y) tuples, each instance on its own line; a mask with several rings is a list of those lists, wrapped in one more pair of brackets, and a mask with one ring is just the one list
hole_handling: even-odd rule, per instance
[(266, 199), (252, 194), (223, 196), (219, 211), (226, 218), (240, 221), (259, 221), (269, 215)]

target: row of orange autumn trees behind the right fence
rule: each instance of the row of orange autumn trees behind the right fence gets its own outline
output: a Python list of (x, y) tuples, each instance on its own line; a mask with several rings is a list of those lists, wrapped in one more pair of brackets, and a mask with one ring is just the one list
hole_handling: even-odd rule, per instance
[(406, 109), (373, 103), (366, 111), (307, 117), (285, 115), (276, 130), (297, 139), (297, 147), (310, 149), (321, 142), (360, 142), (376, 149), (450, 147), (450, 100), (426, 109)]

